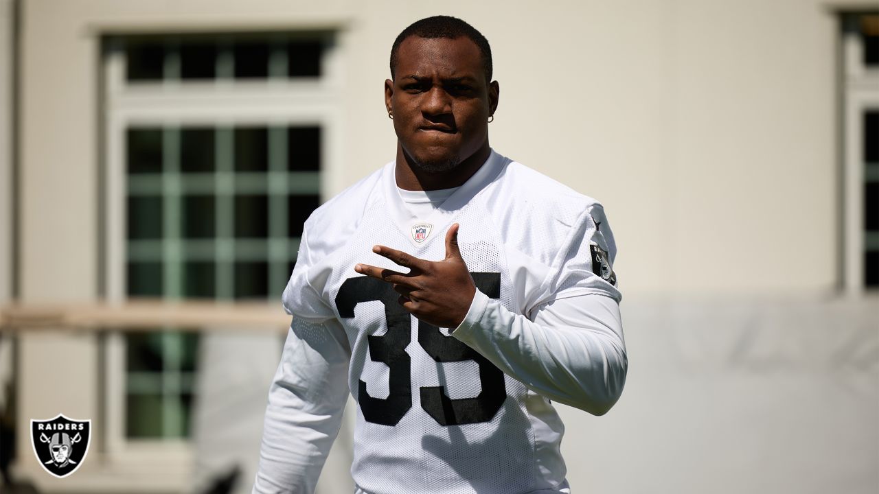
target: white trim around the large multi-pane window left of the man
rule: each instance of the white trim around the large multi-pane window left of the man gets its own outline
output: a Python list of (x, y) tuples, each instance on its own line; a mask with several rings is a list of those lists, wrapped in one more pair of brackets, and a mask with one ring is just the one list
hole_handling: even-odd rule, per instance
[[(339, 38), (323, 52), (323, 75), (315, 80), (158, 82), (127, 84), (124, 54), (108, 51), (103, 63), (105, 159), (105, 287), (108, 301), (126, 298), (126, 156), (131, 125), (321, 127), (321, 197), (341, 181), (343, 60)], [(279, 294), (280, 296), (280, 294)], [(120, 469), (148, 461), (170, 476), (185, 478), (192, 447), (185, 440), (127, 440), (125, 437), (125, 341), (118, 332), (105, 346), (106, 457)]]

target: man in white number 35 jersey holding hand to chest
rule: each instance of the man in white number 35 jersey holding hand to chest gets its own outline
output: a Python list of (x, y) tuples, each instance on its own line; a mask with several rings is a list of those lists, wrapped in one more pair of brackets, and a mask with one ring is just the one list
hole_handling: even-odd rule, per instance
[(350, 390), (358, 492), (567, 492), (550, 400), (601, 415), (626, 377), (602, 207), (490, 149), (472, 26), (410, 25), (390, 69), (396, 160), (305, 223), (253, 491), (315, 489)]

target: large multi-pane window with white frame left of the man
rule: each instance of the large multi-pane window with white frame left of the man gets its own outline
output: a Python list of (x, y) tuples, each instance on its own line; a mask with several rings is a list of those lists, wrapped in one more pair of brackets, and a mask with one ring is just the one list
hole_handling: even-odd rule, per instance
[[(111, 299), (280, 297), (338, 134), (334, 53), (327, 33), (105, 40)], [(110, 449), (185, 443), (199, 341), (172, 327), (113, 337)]]

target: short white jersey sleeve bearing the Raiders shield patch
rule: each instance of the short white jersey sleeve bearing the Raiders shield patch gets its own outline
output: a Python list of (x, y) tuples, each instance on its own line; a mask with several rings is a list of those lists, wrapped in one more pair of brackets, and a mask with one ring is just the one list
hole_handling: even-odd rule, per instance
[(621, 301), (615, 258), (616, 243), (604, 207), (593, 203), (563, 241), (535, 306), (578, 294), (601, 294)]

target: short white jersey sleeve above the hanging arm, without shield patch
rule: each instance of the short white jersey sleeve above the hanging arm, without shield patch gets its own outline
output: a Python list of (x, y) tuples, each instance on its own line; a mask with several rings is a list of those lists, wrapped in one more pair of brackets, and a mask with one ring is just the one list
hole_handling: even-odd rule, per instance
[(327, 270), (322, 272), (319, 264), (329, 252), (320, 245), (309, 243), (310, 220), (311, 218), (302, 231), (296, 265), (287, 281), (287, 287), (284, 288), (281, 301), (287, 314), (312, 323), (321, 323), (335, 316), (330, 305), (323, 300), (321, 292), (315, 288), (316, 285), (323, 285), (320, 281), (327, 275)]

